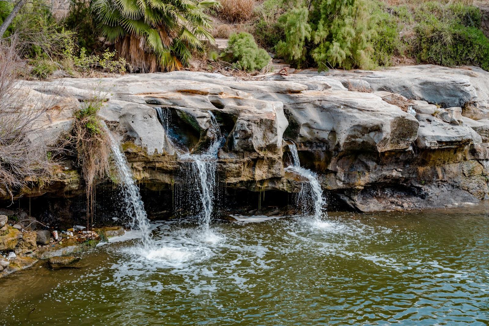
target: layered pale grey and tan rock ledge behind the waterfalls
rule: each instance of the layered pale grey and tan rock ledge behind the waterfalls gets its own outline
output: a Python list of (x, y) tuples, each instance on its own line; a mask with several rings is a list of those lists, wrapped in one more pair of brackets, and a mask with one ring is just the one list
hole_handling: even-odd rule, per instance
[[(489, 73), (478, 68), (306, 70), (260, 81), (180, 71), (29, 87), (37, 96), (62, 99), (33, 137), (48, 141), (69, 132), (78, 101), (105, 90), (100, 116), (150, 190), (180, 182), (178, 153), (212, 143), (215, 117), (224, 137), (220, 181), (230, 188), (297, 192), (300, 180), (284, 171), (287, 144), (294, 142), (301, 164), (318, 173), (329, 198), (353, 209), (434, 208), (489, 198)], [(389, 100), (393, 96), (404, 111)], [(71, 169), (53, 181), (39, 194), (69, 196), (82, 185)]]

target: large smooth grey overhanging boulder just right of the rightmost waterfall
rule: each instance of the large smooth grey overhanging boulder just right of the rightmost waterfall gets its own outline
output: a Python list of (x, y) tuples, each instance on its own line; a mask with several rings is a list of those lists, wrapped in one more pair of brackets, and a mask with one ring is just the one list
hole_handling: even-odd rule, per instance
[(408, 148), (417, 138), (414, 116), (371, 93), (307, 91), (291, 94), (284, 105), (287, 137), (300, 150), (385, 152)]

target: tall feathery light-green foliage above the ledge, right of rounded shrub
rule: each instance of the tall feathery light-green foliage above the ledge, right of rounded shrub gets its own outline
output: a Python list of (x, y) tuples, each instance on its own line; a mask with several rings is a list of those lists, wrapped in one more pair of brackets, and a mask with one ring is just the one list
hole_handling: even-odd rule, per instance
[(310, 56), (320, 70), (375, 67), (375, 17), (369, 0), (311, 0), (284, 14), (285, 40), (277, 53), (300, 65)]

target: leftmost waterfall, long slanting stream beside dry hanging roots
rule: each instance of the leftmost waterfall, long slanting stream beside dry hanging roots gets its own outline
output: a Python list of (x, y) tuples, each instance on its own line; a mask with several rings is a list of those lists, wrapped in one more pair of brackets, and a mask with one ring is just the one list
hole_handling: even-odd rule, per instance
[(124, 209), (126, 210), (127, 216), (131, 217), (131, 227), (139, 228), (141, 230), (141, 240), (144, 248), (150, 249), (153, 247), (150, 221), (146, 214), (146, 210), (144, 210), (144, 203), (141, 200), (139, 187), (134, 182), (133, 173), (131, 172), (126, 156), (119, 146), (119, 142), (114, 139), (109, 128), (106, 130), (111, 140), (112, 153), (115, 164), (117, 165), (117, 170), (119, 171)]

